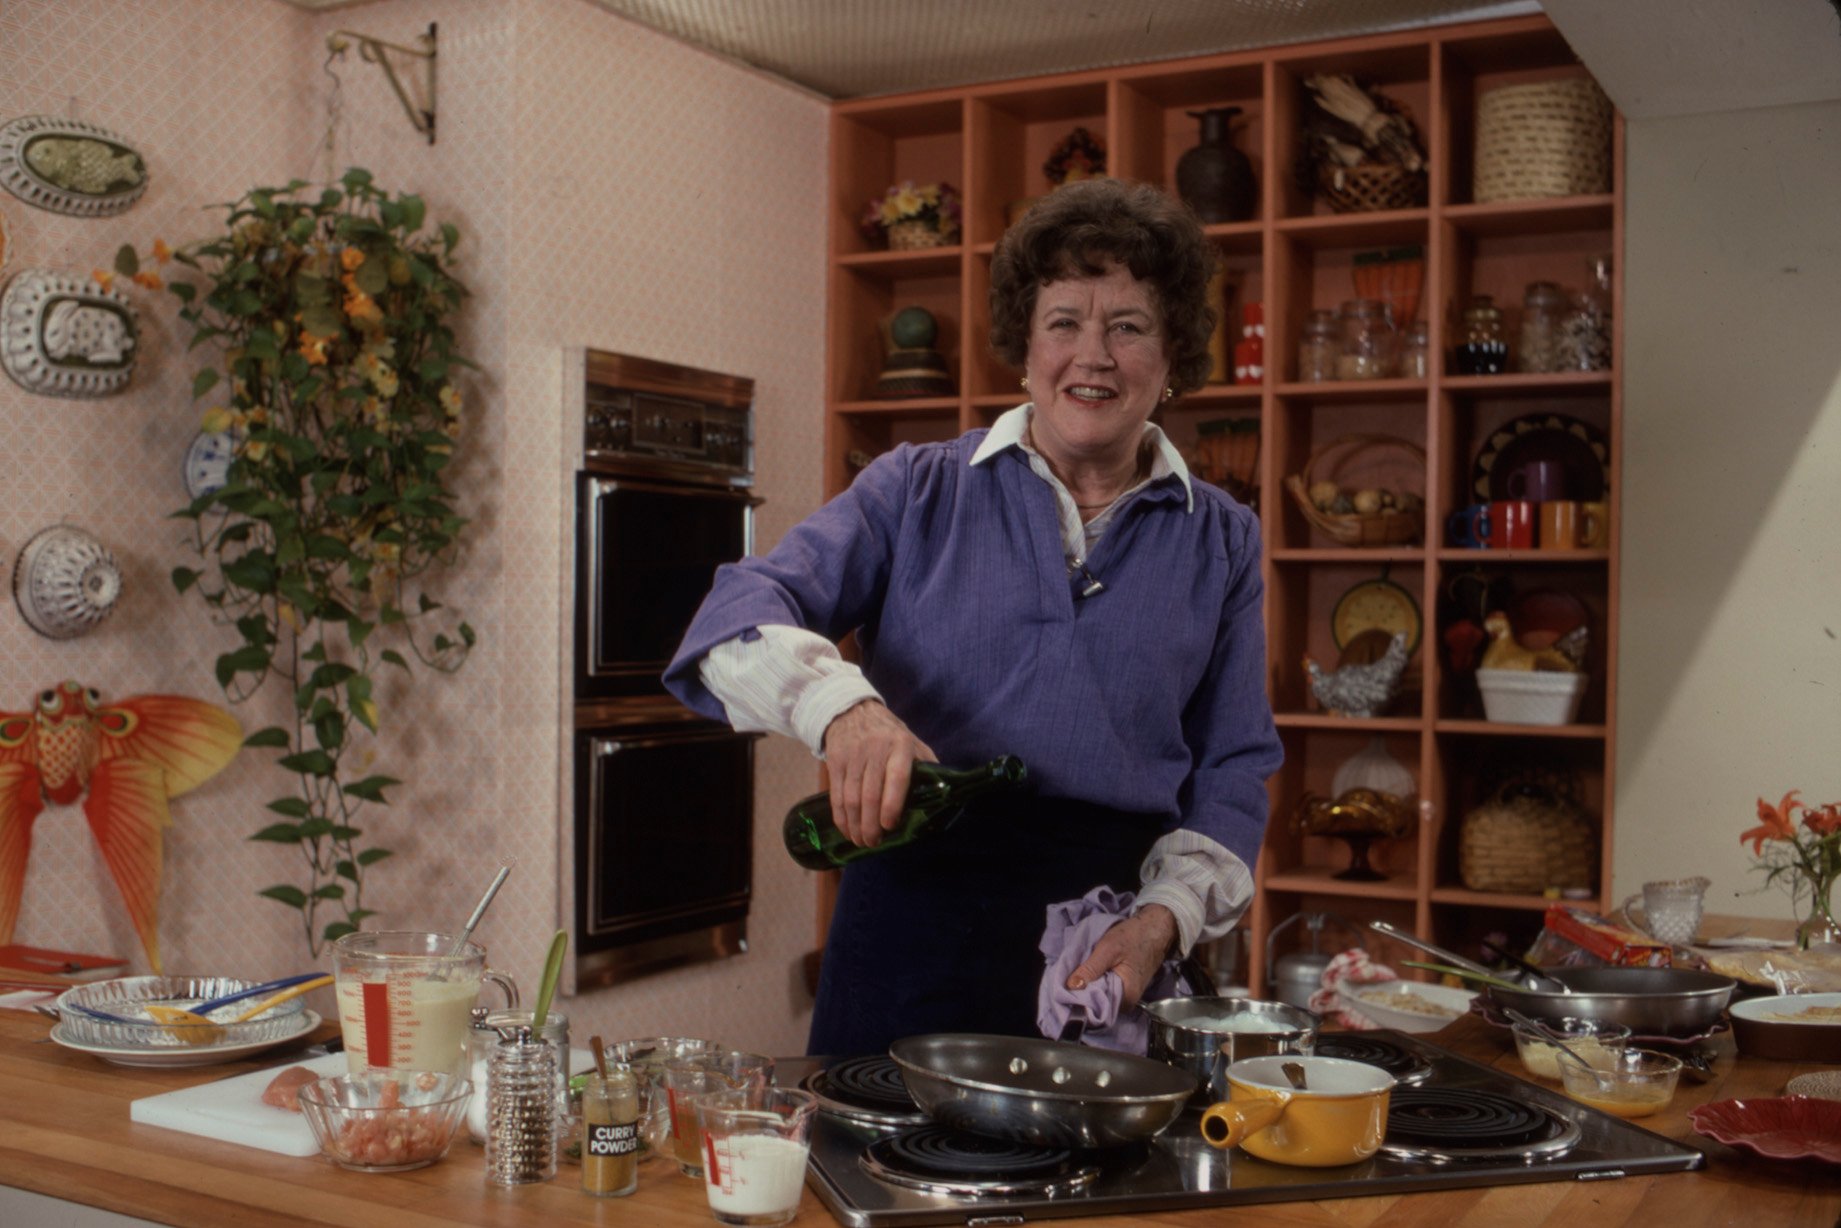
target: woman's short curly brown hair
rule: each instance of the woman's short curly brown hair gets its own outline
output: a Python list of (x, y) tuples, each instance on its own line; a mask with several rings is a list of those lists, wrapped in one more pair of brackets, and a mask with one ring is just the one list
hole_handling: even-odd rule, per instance
[(1011, 366), (1029, 357), (1036, 291), (1070, 276), (1101, 276), (1106, 261), (1149, 282), (1164, 315), (1169, 387), (1208, 383), (1208, 306), (1215, 249), (1195, 214), (1151, 184), (1079, 179), (1062, 184), (1003, 232), (990, 258), (990, 348)]

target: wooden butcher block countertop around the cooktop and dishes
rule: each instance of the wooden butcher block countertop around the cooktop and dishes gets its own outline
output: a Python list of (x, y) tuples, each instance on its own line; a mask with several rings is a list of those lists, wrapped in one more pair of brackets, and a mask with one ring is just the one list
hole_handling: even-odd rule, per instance
[[(554, 1182), (499, 1189), (482, 1175), (482, 1153), (464, 1138), (446, 1160), (409, 1173), (348, 1173), (318, 1158), (295, 1160), (236, 1143), (179, 1134), (129, 1121), (129, 1101), (193, 1086), (260, 1066), (285, 1064), (285, 1051), (260, 1060), (204, 1070), (110, 1066), (48, 1040), (50, 1020), (0, 1011), (0, 1184), (88, 1204), (145, 1221), (188, 1228), (247, 1224), (326, 1228), (422, 1228), (434, 1224), (644, 1224), (709, 1228), (700, 1184), (668, 1162), (641, 1167), (639, 1193), (591, 1199), (578, 1169), (563, 1165)], [(322, 1029), (320, 1037), (331, 1035)], [(1510, 1035), (1475, 1016), (1432, 1040), (1464, 1057), (1521, 1073)], [(1683, 1081), (1668, 1112), (1642, 1125), (1707, 1154), (1699, 1173), (1596, 1182), (1543, 1182), (1497, 1189), (1383, 1195), (1324, 1202), (1276, 1202), (1156, 1215), (1059, 1221), (1094, 1228), (1134, 1224), (1202, 1226), (1232, 1217), (1239, 1224), (1289, 1228), (1416, 1224), (1526, 1228), (1835, 1228), (1841, 1221), (1841, 1167), (1773, 1162), (1727, 1149), (1688, 1125), (1688, 1108), (1705, 1101), (1778, 1095), (1784, 1083), (1815, 1066), (1767, 1062), (1716, 1042), (1714, 1079)], [(0, 1199), (4, 1204), (4, 1199)], [(17, 1221), (15, 1221), (17, 1222)], [(63, 1219), (59, 1222), (64, 1222)], [(795, 1224), (834, 1222), (810, 1189)]]

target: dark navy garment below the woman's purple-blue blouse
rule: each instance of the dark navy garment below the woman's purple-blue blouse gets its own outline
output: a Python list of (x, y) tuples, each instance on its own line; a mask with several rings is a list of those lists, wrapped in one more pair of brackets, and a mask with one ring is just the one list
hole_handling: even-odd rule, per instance
[(1040, 1037), (1048, 906), (1136, 891), (1162, 816), (1003, 797), (843, 871), (806, 1051), (886, 1053), (941, 1031)]

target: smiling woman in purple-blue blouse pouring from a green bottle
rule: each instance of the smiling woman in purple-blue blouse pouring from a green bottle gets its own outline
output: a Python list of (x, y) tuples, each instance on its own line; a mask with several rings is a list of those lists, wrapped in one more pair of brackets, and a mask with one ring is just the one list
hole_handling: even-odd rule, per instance
[[(1035, 1035), (1046, 908), (1095, 886), (1136, 900), (1068, 989), (1114, 972), (1127, 1005), (1250, 902), (1281, 759), (1259, 527), (1149, 422), (1208, 377), (1211, 263), (1154, 188), (1059, 188), (992, 256), (992, 348), (1031, 403), (878, 457), (724, 567), (666, 670), (690, 707), (819, 753), (860, 845), (915, 759), (1029, 768), (1029, 797), (843, 873), (812, 1053)], [(832, 646), (852, 630), (862, 670)]]

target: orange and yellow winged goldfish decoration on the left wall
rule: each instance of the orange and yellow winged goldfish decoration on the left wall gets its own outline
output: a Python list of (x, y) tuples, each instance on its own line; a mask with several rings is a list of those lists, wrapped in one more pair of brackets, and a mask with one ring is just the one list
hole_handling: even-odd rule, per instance
[(94, 687), (74, 681), (41, 690), (31, 712), (0, 712), (0, 943), (13, 941), (18, 921), (33, 819), (46, 803), (83, 797), (90, 834), (158, 972), (168, 799), (223, 771), (241, 744), (236, 718), (203, 700), (129, 696), (105, 707)]

